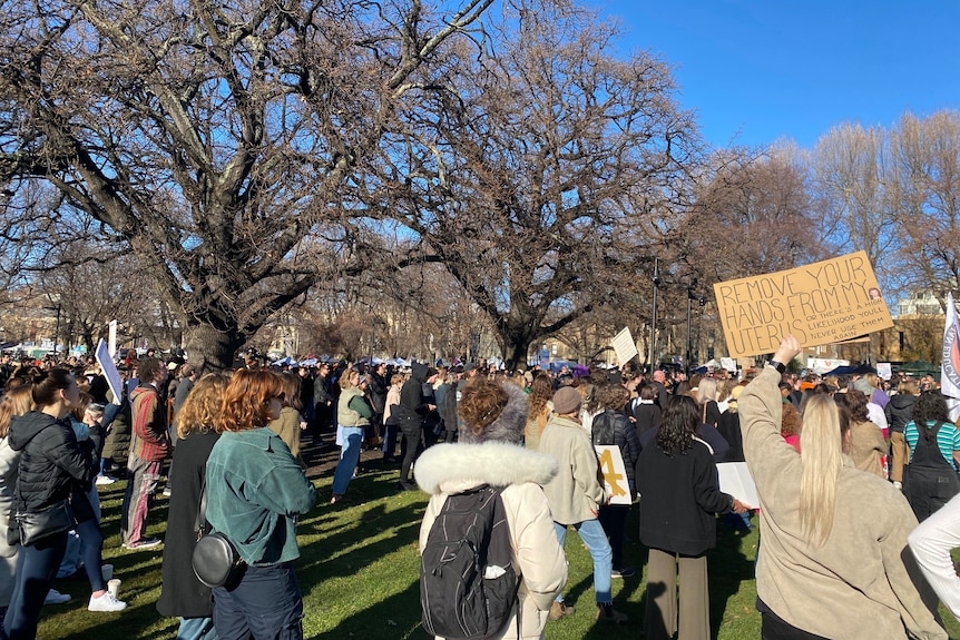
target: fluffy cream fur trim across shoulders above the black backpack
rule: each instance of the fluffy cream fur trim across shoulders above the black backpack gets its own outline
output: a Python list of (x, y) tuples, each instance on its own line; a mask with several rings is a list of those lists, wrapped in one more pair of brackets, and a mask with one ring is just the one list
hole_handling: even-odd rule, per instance
[(459, 493), (489, 484), (547, 484), (557, 475), (557, 459), (517, 444), (435, 444), (417, 459), (417, 484), (427, 493)]

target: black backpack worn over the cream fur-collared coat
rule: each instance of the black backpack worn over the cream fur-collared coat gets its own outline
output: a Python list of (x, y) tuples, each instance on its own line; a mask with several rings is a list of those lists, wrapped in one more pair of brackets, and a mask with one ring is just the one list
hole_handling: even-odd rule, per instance
[(430, 528), (420, 605), (431, 636), (481, 640), (502, 633), (510, 620), (520, 580), (501, 491), (484, 485), (448, 496)]

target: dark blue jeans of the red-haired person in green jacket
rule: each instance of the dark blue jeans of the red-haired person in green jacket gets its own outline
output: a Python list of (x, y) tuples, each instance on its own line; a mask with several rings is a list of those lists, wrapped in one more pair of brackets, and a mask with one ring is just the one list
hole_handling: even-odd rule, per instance
[(233, 590), (214, 589), (214, 627), (221, 640), (303, 640), (303, 598), (293, 565), (247, 565)]

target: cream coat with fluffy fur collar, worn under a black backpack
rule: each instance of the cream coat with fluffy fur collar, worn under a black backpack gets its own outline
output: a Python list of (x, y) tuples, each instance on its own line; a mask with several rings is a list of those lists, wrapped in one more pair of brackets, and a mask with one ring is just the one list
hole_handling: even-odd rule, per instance
[[(489, 484), (501, 494), (520, 573), (520, 640), (543, 637), (547, 613), (567, 581), (567, 561), (540, 489), (557, 472), (556, 460), (515, 444), (438, 444), (417, 460), (417, 483), (431, 494), (420, 526), (420, 551), (447, 496)], [(500, 636), (517, 640), (516, 617)]]

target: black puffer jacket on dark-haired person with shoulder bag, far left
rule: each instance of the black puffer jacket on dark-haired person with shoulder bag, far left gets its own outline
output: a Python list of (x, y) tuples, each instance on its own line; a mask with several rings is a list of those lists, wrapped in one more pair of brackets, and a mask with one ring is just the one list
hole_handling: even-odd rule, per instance
[(99, 469), (92, 441), (77, 442), (65, 421), (31, 411), (10, 421), (10, 449), (21, 451), (13, 510), (35, 513), (69, 499), (75, 486), (89, 486)]

